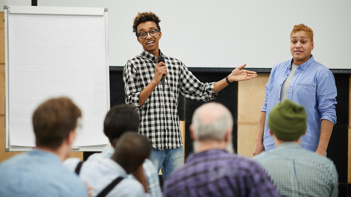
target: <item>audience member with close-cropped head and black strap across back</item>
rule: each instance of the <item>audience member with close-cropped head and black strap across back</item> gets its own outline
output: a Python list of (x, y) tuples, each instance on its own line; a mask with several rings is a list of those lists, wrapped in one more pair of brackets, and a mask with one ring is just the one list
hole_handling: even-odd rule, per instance
[[(102, 194), (106, 194), (106, 197), (150, 196), (143, 175), (143, 162), (149, 154), (150, 143), (146, 137), (136, 132), (125, 132), (115, 144), (111, 158), (86, 161), (76, 172), (82, 181), (91, 186), (92, 196)], [(71, 170), (74, 168), (75, 165), (72, 165)], [(136, 180), (127, 176), (130, 173), (141, 176), (137, 176)]]

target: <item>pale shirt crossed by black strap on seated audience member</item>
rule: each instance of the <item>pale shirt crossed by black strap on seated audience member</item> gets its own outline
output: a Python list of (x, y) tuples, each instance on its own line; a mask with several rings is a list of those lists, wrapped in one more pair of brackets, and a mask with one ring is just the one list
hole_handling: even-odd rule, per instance
[[(71, 171), (75, 171), (79, 158), (68, 158), (64, 165)], [(127, 176), (125, 169), (111, 158), (103, 158), (100, 161), (85, 161), (80, 169), (79, 178), (92, 187), (90, 193), (97, 196), (107, 185), (117, 177), (123, 177), (106, 197), (149, 197), (144, 192), (143, 185), (134, 178)]]

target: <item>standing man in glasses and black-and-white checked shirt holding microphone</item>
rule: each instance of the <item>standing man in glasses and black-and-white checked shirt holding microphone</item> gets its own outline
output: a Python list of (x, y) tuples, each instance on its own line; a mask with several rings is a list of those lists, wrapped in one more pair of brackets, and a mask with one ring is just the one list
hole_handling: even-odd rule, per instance
[[(225, 79), (200, 82), (185, 65), (159, 50), (161, 38), (160, 19), (152, 12), (138, 13), (134, 18), (133, 32), (143, 46), (143, 52), (129, 60), (123, 70), (126, 103), (132, 104), (140, 116), (139, 133), (152, 144), (151, 161), (163, 178), (183, 165), (183, 147), (178, 118), (178, 93), (186, 97), (209, 101), (233, 81), (255, 78), (256, 72), (237, 67)], [(157, 62), (164, 56), (165, 63)], [(167, 66), (166, 66), (167, 65)], [(160, 83), (165, 75), (165, 87)]]

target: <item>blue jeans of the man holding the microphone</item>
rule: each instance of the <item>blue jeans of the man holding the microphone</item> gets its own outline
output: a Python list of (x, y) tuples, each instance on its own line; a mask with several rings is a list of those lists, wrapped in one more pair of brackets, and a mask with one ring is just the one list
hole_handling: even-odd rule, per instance
[(183, 146), (165, 150), (151, 147), (150, 160), (154, 164), (157, 173), (161, 169), (163, 181), (165, 182), (173, 170), (184, 164)]

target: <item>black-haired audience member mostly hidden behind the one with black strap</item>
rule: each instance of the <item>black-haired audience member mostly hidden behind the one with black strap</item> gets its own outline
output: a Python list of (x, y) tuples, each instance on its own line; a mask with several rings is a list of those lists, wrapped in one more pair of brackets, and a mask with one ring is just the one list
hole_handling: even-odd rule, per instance
[[(135, 112), (134, 107), (126, 104), (118, 104), (108, 111), (104, 121), (104, 133), (111, 142), (111, 147), (106, 147), (101, 153), (95, 153), (88, 157), (87, 161), (101, 162), (106, 158), (110, 158), (115, 152), (115, 144), (120, 140), (120, 136), (126, 131), (134, 131), (137, 133), (139, 128), (139, 114)], [(64, 165), (71, 170), (77, 167), (80, 162), (79, 158), (69, 158)], [(148, 193), (151, 196), (162, 196), (158, 174), (150, 159), (145, 159), (143, 168), (134, 172), (133, 175), (144, 182)], [(93, 186), (93, 185), (90, 185)]]

